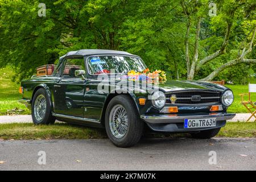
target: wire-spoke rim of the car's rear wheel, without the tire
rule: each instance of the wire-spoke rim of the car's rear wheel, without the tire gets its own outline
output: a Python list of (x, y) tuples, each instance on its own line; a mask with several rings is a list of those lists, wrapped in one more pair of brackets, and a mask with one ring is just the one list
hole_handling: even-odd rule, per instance
[(34, 105), (34, 115), (37, 121), (42, 121), (44, 115), (46, 115), (46, 98), (40, 94), (36, 97)]

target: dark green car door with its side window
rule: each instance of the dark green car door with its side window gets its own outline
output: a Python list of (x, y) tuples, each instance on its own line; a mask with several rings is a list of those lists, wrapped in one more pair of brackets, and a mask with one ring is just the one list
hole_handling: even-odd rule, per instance
[(84, 57), (70, 57), (64, 60), (61, 78), (54, 86), (53, 106), (56, 114), (84, 117), (85, 80), (75, 76), (76, 70), (84, 70)]

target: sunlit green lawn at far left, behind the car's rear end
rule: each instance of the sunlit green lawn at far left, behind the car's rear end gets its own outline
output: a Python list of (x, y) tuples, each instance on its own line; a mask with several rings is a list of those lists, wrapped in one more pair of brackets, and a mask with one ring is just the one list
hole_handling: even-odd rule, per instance
[[(17, 102), (20, 98), (19, 85), (11, 81), (14, 72), (10, 68), (0, 69), (0, 115), (8, 113), (30, 114), (30, 111)], [(19, 111), (20, 110), (20, 111)]]

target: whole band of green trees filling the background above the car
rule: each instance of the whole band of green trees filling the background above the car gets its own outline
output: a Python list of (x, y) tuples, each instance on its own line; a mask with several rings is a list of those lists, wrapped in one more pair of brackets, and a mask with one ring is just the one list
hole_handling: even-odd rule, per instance
[(0, 0), (0, 67), (17, 81), (68, 51), (116, 49), (169, 78), (246, 83), (256, 72), (254, 0)]

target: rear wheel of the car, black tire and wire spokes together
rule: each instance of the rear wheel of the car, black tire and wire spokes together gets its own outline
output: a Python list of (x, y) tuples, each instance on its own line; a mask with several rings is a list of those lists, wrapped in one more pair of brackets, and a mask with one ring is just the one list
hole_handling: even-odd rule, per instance
[(35, 125), (49, 125), (55, 123), (51, 111), (51, 101), (46, 90), (40, 88), (36, 91), (32, 100), (32, 120)]

